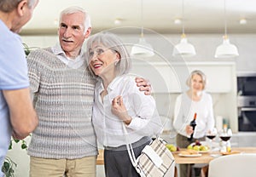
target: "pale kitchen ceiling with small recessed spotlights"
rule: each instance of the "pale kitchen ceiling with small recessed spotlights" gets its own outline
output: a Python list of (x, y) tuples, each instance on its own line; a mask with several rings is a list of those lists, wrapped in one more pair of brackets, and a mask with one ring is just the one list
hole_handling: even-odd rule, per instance
[[(228, 33), (256, 32), (256, 0), (226, 0), (226, 15), (224, 0), (144, 0), (143, 13), (141, 0), (40, 0), (21, 35), (56, 34), (61, 10), (73, 5), (89, 12), (93, 32), (143, 26), (176, 34), (184, 25), (185, 33), (224, 33), (224, 17)], [(118, 25), (114, 24), (116, 19), (120, 20)], [(183, 19), (183, 25), (174, 24), (175, 19)], [(247, 24), (241, 25), (241, 19)]]

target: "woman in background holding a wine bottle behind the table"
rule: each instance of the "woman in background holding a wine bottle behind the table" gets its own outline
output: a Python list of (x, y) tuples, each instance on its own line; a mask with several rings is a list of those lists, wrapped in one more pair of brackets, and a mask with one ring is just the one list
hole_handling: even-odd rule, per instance
[[(186, 148), (195, 140), (205, 140), (207, 130), (214, 127), (212, 96), (207, 94), (207, 77), (202, 71), (192, 71), (187, 79), (189, 90), (177, 96), (173, 126), (177, 131), (177, 146)], [(196, 113), (195, 130), (189, 125)], [(188, 138), (193, 133), (193, 139)], [(187, 176), (187, 166), (180, 166), (181, 177)]]

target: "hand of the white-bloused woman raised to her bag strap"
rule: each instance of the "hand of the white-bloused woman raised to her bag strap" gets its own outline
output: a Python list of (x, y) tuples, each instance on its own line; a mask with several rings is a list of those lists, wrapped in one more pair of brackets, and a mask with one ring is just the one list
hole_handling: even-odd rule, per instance
[(112, 100), (111, 111), (115, 116), (119, 117), (120, 120), (124, 121), (126, 125), (131, 123), (131, 117), (126, 111), (122, 96), (117, 96)]

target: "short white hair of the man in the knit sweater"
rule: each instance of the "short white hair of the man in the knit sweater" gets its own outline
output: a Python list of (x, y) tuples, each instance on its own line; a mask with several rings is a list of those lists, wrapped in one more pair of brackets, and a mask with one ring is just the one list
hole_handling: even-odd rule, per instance
[(79, 6), (72, 6), (72, 7), (69, 7), (67, 9), (64, 9), (61, 11), (61, 14), (60, 14), (60, 23), (61, 23), (61, 20), (62, 20), (62, 16), (64, 14), (74, 14), (74, 13), (78, 13), (78, 12), (81, 12), (84, 14), (84, 34), (85, 32), (88, 30), (88, 28), (91, 27), (91, 23), (90, 23), (90, 15), (81, 7)]

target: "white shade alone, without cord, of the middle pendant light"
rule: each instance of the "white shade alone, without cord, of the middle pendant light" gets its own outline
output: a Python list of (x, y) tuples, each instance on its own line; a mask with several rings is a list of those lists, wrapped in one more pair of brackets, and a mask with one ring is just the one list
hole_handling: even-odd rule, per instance
[(180, 43), (178, 43), (172, 52), (173, 56), (182, 56), (182, 57), (190, 57), (194, 56), (195, 48), (191, 43), (188, 43), (188, 39), (186, 37), (182, 37)]

